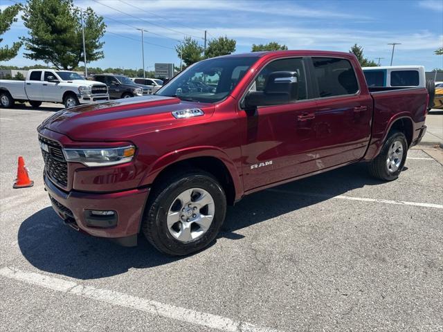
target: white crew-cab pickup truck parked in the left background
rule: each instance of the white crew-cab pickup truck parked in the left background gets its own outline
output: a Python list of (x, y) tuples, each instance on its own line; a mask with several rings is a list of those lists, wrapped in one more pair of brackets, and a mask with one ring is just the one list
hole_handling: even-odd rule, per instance
[(73, 71), (34, 69), (25, 81), (0, 80), (0, 107), (13, 107), (14, 102), (29, 102), (39, 107), (42, 102), (59, 102), (64, 107), (109, 100), (108, 88), (101, 82), (84, 80)]

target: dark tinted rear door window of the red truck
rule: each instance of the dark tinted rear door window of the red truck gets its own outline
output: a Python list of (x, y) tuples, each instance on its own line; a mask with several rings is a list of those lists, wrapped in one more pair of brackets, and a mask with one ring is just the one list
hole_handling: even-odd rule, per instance
[(359, 91), (354, 68), (347, 59), (313, 57), (312, 62), (320, 97), (353, 95)]

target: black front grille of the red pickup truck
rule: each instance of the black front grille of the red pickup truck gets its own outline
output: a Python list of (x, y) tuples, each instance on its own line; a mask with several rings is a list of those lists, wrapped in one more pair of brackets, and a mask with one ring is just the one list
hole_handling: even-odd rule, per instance
[(46, 144), (49, 150), (42, 149), (46, 174), (55, 183), (66, 187), (68, 185), (68, 163), (64, 159), (62, 147), (58, 142), (48, 140), (43, 136), (39, 136), (39, 140)]

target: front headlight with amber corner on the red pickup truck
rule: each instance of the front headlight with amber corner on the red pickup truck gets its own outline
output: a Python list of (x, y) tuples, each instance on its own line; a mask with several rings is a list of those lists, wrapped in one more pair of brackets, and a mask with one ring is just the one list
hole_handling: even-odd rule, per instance
[(113, 147), (109, 149), (63, 149), (66, 161), (82, 163), (89, 167), (128, 163), (134, 157), (136, 147)]

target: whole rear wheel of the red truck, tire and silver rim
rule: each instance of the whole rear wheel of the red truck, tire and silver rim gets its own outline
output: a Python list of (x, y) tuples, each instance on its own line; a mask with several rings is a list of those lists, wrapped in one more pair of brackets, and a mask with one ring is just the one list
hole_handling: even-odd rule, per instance
[(406, 162), (408, 142), (400, 131), (392, 131), (380, 154), (369, 164), (369, 172), (375, 178), (392, 181), (399, 177)]

